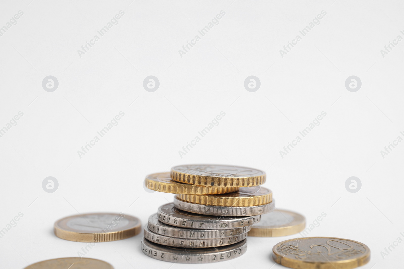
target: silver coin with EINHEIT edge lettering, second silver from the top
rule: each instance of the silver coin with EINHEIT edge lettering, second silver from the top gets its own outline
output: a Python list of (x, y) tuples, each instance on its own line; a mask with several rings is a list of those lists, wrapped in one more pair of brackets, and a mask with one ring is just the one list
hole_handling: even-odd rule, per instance
[(176, 209), (172, 203), (158, 208), (158, 220), (175, 227), (193, 229), (233, 229), (258, 223), (261, 215), (248, 217), (216, 217)]

